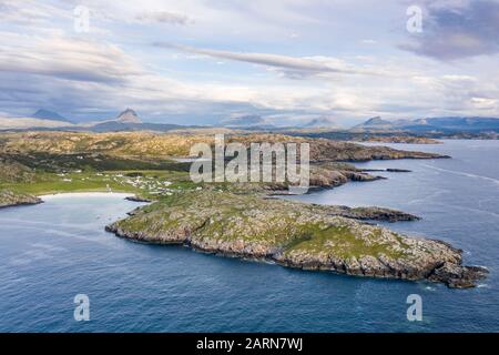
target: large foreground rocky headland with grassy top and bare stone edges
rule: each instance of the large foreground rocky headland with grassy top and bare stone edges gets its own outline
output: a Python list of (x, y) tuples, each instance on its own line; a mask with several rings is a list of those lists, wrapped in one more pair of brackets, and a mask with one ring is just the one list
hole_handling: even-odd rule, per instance
[[(352, 217), (369, 210), (203, 191), (179, 193), (106, 227), (119, 236), (357, 276), (428, 280), (468, 287), (485, 275), (461, 251)], [(371, 210), (371, 216), (395, 213)], [(335, 213), (336, 212), (336, 213)], [(409, 217), (409, 215), (407, 215)], [(411, 216), (414, 217), (414, 216)]]

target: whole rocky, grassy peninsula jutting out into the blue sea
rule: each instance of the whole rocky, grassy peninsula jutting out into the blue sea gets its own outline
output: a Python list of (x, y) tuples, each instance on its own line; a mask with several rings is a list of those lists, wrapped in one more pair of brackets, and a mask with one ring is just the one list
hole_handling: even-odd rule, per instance
[[(283, 134), (234, 134), (231, 142), (308, 142), (310, 185), (384, 179), (350, 162), (442, 159), (432, 153)], [(369, 221), (416, 221), (383, 207), (319, 206), (269, 197), (286, 184), (194, 183), (189, 156), (195, 134), (23, 132), (0, 134), (0, 206), (41, 202), (75, 191), (130, 192), (152, 203), (106, 230), (131, 241), (195, 250), (284, 266), (357, 276), (428, 280), (471, 287), (487, 271), (462, 265), (460, 250), (395, 233)]]

